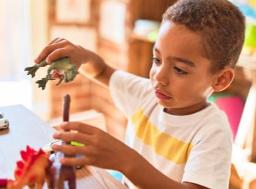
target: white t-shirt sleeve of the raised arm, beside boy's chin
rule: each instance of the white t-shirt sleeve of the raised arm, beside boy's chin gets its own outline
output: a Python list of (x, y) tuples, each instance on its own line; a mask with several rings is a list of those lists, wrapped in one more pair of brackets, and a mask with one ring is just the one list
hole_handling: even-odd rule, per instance
[(147, 94), (152, 93), (149, 79), (125, 71), (115, 71), (112, 74), (109, 90), (114, 104), (126, 117), (130, 117), (143, 103)]

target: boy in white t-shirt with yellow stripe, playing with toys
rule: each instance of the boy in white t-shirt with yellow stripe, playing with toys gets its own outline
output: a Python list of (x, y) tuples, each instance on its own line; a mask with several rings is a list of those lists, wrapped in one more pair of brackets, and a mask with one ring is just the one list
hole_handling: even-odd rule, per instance
[[(56, 38), (35, 62), (70, 57), (80, 72), (109, 87), (128, 118), (126, 143), (77, 122), (56, 139), (85, 147), (54, 146), (63, 164), (121, 171), (129, 188), (228, 188), (232, 136), (228, 120), (207, 102), (227, 88), (243, 45), (245, 21), (226, 0), (181, 0), (163, 15), (150, 79), (115, 71), (98, 55)], [(139, 64), (139, 62), (138, 62)]]

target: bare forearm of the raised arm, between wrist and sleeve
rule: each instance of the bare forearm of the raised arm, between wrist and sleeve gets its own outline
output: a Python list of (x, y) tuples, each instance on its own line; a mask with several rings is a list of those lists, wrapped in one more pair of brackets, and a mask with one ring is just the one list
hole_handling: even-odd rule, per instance
[[(82, 47), (81, 47), (82, 48)], [(88, 58), (89, 57), (89, 58)], [(97, 83), (109, 85), (109, 79), (115, 69), (108, 66), (106, 62), (94, 52), (85, 50), (85, 62), (80, 66), (79, 71)]]

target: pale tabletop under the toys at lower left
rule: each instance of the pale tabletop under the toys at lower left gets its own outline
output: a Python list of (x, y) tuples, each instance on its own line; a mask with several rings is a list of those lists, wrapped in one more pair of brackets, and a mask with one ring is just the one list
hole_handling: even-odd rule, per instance
[[(0, 178), (14, 178), (16, 161), (21, 159), (20, 151), (27, 145), (38, 150), (52, 142), (56, 130), (22, 105), (0, 107), (0, 111), (9, 121), (9, 129), (0, 130)], [(104, 169), (88, 166), (76, 170), (76, 188), (126, 187)]]

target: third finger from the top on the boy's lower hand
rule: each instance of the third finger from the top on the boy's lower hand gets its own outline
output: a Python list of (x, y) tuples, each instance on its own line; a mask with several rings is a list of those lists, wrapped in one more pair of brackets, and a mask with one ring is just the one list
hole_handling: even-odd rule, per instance
[(87, 154), (86, 148), (84, 146), (71, 146), (71, 145), (54, 145), (52, 149), (54, 151), (61, 151), (67, 155), (76, 155), (76, 154)]

